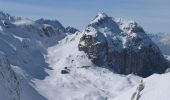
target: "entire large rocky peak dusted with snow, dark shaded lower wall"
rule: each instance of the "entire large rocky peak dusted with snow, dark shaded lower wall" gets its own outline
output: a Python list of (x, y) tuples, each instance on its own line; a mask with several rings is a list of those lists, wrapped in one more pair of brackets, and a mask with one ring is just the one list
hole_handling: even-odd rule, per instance
[(83, 34), (78, 48), (96, 65), (143, 77), (163, 73), (168, 66), (159, 48), (133, 21), (116, 20), (99, 13)]

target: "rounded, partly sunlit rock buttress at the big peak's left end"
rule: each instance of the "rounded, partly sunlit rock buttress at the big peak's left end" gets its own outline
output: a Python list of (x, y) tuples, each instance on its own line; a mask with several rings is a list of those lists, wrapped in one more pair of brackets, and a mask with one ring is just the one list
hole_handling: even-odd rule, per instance
[[(90, 35), (91, 33), (94, 35)], [(107, 58), (107, 40), (102, 33), (95, 31), (92, 27), (87, 28), (85, 32), (89, 34), (83, 34), (79, 43), (79, 50), (84, 51), (88, 58), (97, 65), (102, 65)]]

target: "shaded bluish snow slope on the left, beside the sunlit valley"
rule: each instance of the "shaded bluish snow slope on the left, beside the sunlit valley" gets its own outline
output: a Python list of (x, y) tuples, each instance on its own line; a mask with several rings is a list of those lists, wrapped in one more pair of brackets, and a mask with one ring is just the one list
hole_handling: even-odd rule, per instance
[(42, 80), (48, 75), (45, 72), (50, 69), (44, 58), (46, 49), (57, 44), (66, 34), (58, 33), (53, 26), (46, 28), (44, 24), (3, 12), (0, 12), (0, 26), (0, 51), (6, 55), (18, 77), (21, 100), (46, 100), (33, 88), (32, 80)]

